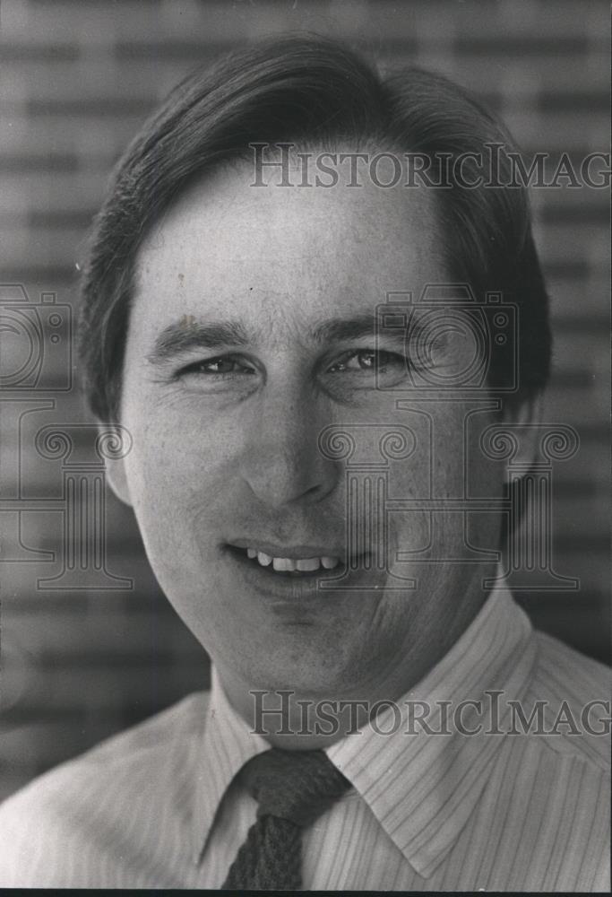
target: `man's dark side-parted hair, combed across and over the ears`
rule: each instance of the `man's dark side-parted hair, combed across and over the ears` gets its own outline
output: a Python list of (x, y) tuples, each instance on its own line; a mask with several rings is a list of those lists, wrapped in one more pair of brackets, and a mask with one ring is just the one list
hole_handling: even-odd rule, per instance
[[(249, 144), (331, 141), (423, 153), (434, 166), (462, 153), (482, 155), (487, 144), (514, 149), (504, 126), (443, 76), (411, 67), (383, 77), (327, 39), (275, 39), (194, 72), (126, 150), (95, 222), (79, 350), (86, 396), (100, 420), (118, 415), (134, 259), (151, 223), (194, 176), (252, 158)], [(463, 166), (466, 179), (474, 177), (471, 164), (471, 172), (469, 159)], [(502, 154), (499, 183), (510, 180), (508, 164)], [(520, 391), (513, 400), (531, 396), (547, 381), (550, 333), (526, 191), (454, 183), (436, 193), (447, 270), (477, 295), (503, 291), (519, 308)], [(490, 382), (510, 376), (491, 370)]]

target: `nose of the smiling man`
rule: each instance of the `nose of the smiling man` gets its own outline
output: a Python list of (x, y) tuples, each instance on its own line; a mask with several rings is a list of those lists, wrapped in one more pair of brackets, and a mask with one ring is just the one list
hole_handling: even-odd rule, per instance
[(250, 412), (241, 473), (260, 501), (280, 509), (315, 504), (333, 491), (340, 466), (318, 448), (330, 422), (320, 397), (297, 385), (268, 386)]

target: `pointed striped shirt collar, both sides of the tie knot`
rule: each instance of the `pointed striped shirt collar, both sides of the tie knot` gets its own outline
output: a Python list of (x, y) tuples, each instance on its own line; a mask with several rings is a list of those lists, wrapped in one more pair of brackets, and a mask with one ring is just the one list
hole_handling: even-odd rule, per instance
[[(379, 731), (366, 726), (326, 749), (418, 875), (431, 875), (453, 847), (501, 745), (500, 735), (487, 736), (495, 698), (489, 700), (486, 690), (503, 692), (503, 701), (518, 698), (529, 683), (535, 650), (526, 614), (507, 588), (496, 588), (453, 648), (397, 702), (400, 726), (397, 719), (390, 726), (389, 715), (383, 715)], [(482, 701), (478, 718), (470, 718), (469, 706), (462, 716), (468, 727), (480, 723), (481, 731), (465, 736), (449, 724), (450, 735), (407, 735), (406, 701), (421, 701), (433, 709), (427, 722), (434, 730), (441, 727), (436, 709), (444, 702), (452, 717), (460, 701)], [(503, 718), (500, 705), (500, 727)], [(380, 734), (390, 728), (392, 735)], [(269, 748), (232, 708), (213, 667), (194, 793), (194, 862), (202, 855), (232, 779), (248, 760)]]

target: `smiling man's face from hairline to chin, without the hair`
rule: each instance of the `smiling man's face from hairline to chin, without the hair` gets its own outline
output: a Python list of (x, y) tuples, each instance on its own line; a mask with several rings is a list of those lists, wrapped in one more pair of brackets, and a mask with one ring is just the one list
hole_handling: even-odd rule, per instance
[[(382, 340), (376, 356), (368, 332), (387, 292), (418, 296), (449, 280), (432, 197), (251, 179), (238, 166), (190, 188), (140, 252), (121, 408), (134, 448), (118, 491), (161, 588), (222, 679), (335, 697), (385, 683), (401, 693), (469, 622), (486, 572), (399, 562), (398, 550), (461, 558), (462, 515), (387, 513), (372, 498), (385, 477), (393, 499), (464, 494), (466, 406), (412, 395), (412, 411), (398, 410), (411, 396), (408, 381), (397, 391), (406, 346)], [(427, 363), (461, 370), (470, 351), (451, 333)], [(480, 420), (482, 430), (491, 418)], [(398, 425), (414, 434), (412, 454), (385, 461), (381, 440)], [(354, 462), (387, 465), (353, 471), (357, 542), (350, 459), (318, 444), (332, 426), (352, 434)], [(499, 494), (483, 477), (477, 488)], [(498, 528), (480, 517), (470, 538), (496, 547)], [(347, 562), (357, 570), (343, 588), (320, 587)]]

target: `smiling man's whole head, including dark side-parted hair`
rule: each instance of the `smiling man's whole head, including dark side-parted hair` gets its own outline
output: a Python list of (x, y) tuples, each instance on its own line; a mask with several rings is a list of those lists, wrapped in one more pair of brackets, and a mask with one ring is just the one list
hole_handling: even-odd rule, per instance
[[(539, 393), (549, 355), (521, 189), (410, 189), (403, 177), (392, 188), (254, 187), (250, 144), (294, 144), (292, 171), (298, 152), (418, 152), (433, 176), (444, 160), (509, 141), (443, 78), (411, 69), (382, 80), (344, 48), (291, 39), (187, 79), (119, 164), (83, 283), (87, 392), (101, 420), (131, 431), (116, 492), (228, 691), (395, 697), (482, 601), (466, 545), (495, 549), (499, 515), (474, 515), (468, 531), (453, 499), (466, 494), (468, 462), (470, 489), (502, 494), (478, 448), (496, 390), (470, 410), (448, 391), (410, 393), (418, 316), (401, 345), (375, 344), (385, 295), (430, 283), (503, 292), (520, 349), (509, 413)], [(448, 382), (470, 351), (450, 327), (419, 355), (420, 374)], [(507, 364), (491, 353), (491, 384), (516, 375)], [(384, 433), (398, 427), (406, 457), (380, 469)], [(357, 434), (369, 458), (353, 480), (321, 450), (334, 428)], [(413, 504), (390, 512), (389, 497)], [(324, 589), (315, 564), (331, 576), (357, 569)]]

